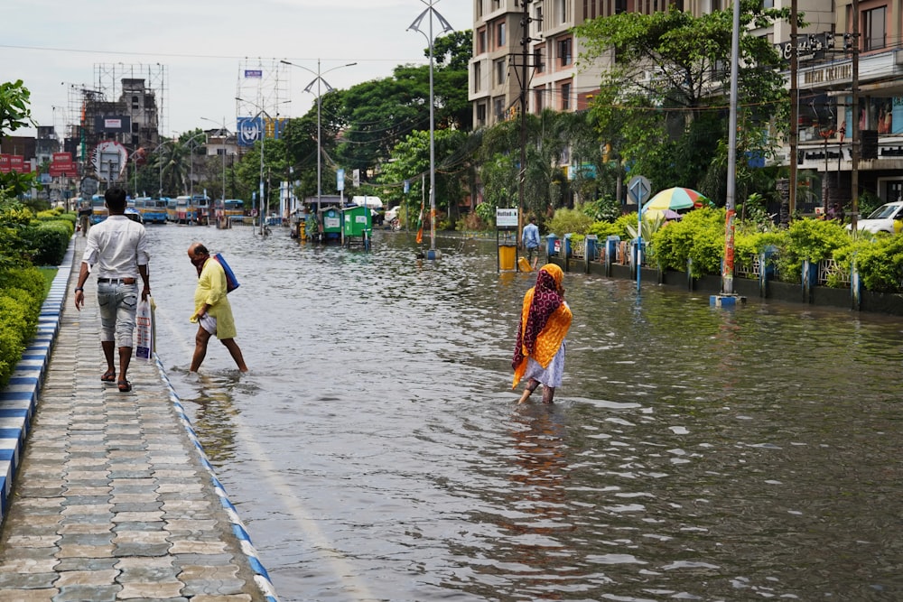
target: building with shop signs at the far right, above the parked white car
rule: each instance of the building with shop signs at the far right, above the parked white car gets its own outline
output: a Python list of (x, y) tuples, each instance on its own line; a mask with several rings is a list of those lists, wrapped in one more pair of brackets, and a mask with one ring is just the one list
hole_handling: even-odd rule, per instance
[[(784, 2), (788, 5), (789, 0)], [(827, 3), (816, 3), (827, 4)], [(903, 0), (835, 0), (819, 14), (818, 29), (831, 48), (800, 51), (796, 73), (799, 134), (796, 164), (814, 173), (813, 191), (824, 205), (848, 204), (853, 173), (858, 196), (903, 198)], [(853, 9), (858, 10), (858, 31)], [(813, 22), (814, 12), (806, 12)], [(786, 36), (788, 37), (788, 36)], [(853, 52), (853, 50), (858, 52)], [(856, 61), (854, 68), (853, 62)], [(854, 71), (856, 77), (854, 78)], [(789, 81), (789, 72), (788, 72)], [(857, 115), (853, 116), (853, 88)], [(858, 140), (852, 139), (856, 119)], [(852, 145), (858, 144), (858, 161)], [(787, 148), (783, 164), (791, 158)], [(847, 205), (849, 208), (849, 205)]]

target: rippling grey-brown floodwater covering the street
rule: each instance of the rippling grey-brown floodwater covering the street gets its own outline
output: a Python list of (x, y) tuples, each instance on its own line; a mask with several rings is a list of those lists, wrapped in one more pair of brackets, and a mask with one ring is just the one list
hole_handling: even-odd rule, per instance
[[(148, 231), (157, 353), (286, 602), (903, 599), (898, 318), (566, 274), (563, 385), (518, 406), (535, 274), (494, 240)], [(192, 240), (247, 375), (187, 373)]]

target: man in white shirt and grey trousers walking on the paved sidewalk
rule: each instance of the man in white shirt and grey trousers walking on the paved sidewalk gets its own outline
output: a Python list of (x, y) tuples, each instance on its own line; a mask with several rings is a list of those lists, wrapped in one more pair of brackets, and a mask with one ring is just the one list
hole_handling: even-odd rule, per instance
[[(109, 217), (88, 231), (85, 255), (81, 259), (79, 283), (75, 287), (75, 309), (85, 304), (88, 274), (98, 275), (100, 309), (100, 345), (107, 359), (107, 371), (100, 376), (105, 383), (116, 382), (119, 391), (128, 393), (132, 384), (126, 378), (132, 359), (135, 309), (138, 304), (138, 276), (144, 282), (141, 300), (151, 292), (147, 275), (147, 239), (144, 226), (126, 218), (126, 190), (111, 188), (104, 195)], [(96, 269), (94, 269), (96, 268)], [(116, 375), (115, 349), (119, 343), (119, 373)]]

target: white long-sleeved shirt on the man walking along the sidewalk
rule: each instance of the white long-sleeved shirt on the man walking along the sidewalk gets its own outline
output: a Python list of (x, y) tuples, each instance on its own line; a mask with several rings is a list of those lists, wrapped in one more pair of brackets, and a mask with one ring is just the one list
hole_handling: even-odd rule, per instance
[(126, 216), (110, 216), (88, 230), (88, 243), (81, 261), (98, 278), (137, 278), (138, 266), (147, 265), (147, 236), (144, 226)]

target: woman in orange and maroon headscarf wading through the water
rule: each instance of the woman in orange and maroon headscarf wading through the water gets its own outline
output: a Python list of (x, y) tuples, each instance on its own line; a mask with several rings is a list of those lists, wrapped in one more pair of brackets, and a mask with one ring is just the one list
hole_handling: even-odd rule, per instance
[(555, 264), (545, 264), (536, 273), (536, 284), (524, 295), (517, 346), (511, 367), (514, 383), (527, 378), (526, 389), (518, 403), (525, 403), (536, 387), (543, 384), (543, 403), (552, 403), (555, 387), (564, 374), (564, 337), (571, 328), (571, 308), (564, 301), (564, 273)]

